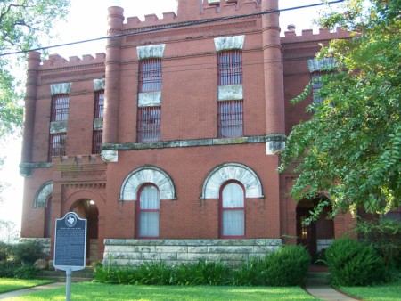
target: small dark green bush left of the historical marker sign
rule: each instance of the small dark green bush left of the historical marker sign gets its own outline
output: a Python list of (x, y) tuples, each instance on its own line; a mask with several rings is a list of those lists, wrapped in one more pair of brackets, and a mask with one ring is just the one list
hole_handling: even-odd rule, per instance
[(37, 259), (45, 258), (45, 252), (38, 241), (28, 240), (13, 245), (12, 256), (22, 264), (34, 264)]

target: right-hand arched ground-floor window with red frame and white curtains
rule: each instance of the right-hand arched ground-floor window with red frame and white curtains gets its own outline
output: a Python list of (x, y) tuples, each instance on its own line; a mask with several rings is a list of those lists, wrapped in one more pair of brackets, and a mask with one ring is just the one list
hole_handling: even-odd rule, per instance
[(240, 183), (225, 183), (220, 191), (220, 235), (222, 238), (245, 236), (245, 191)]

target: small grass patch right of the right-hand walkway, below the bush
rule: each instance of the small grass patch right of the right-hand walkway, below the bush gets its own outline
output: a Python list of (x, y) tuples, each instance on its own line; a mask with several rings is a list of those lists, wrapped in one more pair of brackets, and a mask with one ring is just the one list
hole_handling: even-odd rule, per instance
[(374, 287), (341, 287), (348, 295), (364, 300), (395, 301), (401, 300), (401, 280)]

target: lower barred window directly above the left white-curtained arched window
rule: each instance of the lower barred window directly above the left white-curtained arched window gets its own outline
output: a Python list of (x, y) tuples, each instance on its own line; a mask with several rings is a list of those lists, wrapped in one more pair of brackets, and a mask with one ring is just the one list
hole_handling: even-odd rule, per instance
[(160, 107), (138, 108), (137, 141), (160, 141)]

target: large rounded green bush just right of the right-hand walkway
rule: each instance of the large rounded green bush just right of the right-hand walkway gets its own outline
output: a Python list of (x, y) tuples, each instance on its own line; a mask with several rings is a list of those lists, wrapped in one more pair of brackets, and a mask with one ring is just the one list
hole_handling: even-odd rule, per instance
[(326, 250), (326, 262), (334, 286), (367, 286), (386, 281), (383, 259), (372, 245), (343, 237)]

